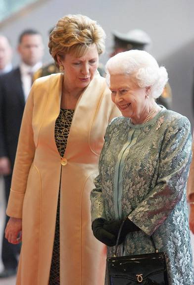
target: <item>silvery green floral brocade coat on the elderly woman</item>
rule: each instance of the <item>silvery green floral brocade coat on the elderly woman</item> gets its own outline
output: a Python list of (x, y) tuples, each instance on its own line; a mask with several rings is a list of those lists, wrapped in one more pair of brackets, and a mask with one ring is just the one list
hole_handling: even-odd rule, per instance
[[(194, 285), (186, 183), (191, 162), (191, 126), (176, 112), (161, 111), (133, 125), (113, 119), (106, 130), (96, 188), (91, 192), (92, 220), (129, 215), (142, 231), (127, 235), (120, 255), (166, 252), (170, 285)], [(113, 256), (114, 247), (107, 248)]]

